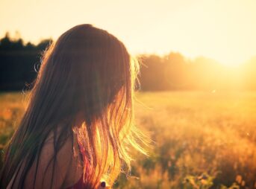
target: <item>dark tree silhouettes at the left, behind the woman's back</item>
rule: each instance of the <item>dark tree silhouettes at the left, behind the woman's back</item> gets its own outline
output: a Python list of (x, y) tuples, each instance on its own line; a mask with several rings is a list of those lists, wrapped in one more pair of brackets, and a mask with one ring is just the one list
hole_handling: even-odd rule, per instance
[(34, 81), (40, 65), (40, 54), (51, 43), (45, 39), (38, 45), (22, 39), (11, 39), (9, 33), (0, 40), (0, 90), (21, 90)]

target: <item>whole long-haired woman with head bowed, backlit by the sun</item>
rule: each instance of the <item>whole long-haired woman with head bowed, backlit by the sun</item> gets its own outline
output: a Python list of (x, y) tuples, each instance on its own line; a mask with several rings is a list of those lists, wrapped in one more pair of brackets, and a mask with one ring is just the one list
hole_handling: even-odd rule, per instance
[(63, 33), (43, 56), (7, 146), (0, 188), (113, 185), (120, 170), (130, 169), (131, 149), (144, 153), (133, 125), (137, 71), (107, 31), (77, 25)]

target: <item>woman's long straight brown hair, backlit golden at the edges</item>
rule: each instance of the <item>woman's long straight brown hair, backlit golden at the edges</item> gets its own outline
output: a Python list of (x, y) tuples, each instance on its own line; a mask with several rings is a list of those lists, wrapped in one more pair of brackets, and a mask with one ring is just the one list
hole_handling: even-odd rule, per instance
[[(6, 161), (18, 165), (24, 151), (36, 161), (49, 132), (59, 129), (54, 156), (75, 133), (86, 152), (85, 182), (93, 188), (104, 177), (111, 185), (122, 164), (129, 167), (129, 146), (143, 152), (133, 126), (137, 66), (125, 45), (107, 31), (77, 25), (63, 33), (43, 54)], [(6, 166), (3, 173), (10, 177), (12, 170)]]

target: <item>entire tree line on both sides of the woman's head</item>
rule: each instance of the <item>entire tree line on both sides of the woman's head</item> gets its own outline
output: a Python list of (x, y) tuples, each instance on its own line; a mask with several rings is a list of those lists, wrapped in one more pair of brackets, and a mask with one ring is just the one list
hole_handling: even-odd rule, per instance
[[(51, 43), (26, 44), (21, 38), (0, 39), (0, 90), (21, 90), (37, 76), (42, 52)], [(206, 57), (188, 59), (171, 52), (164, 56), (140, 54), (140, 90), (230, 90), (256, 89), (256, 57), (239, 67), (226, 67)]]

